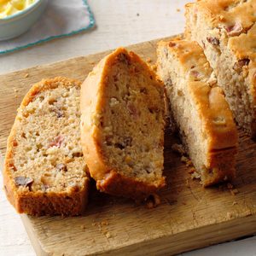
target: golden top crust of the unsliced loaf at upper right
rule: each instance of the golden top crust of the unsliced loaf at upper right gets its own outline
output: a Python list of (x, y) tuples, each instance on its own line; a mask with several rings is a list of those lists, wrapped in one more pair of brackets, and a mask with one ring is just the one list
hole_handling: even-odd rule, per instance
[[(227, 44), (238, 60), (255, 60), (255, 9), (255, 0), (201, 0), (186, 5), (186, 16), (189, 20), (189, 12), (195, 15), (200, 13), (207, 26), (224, 32)], [(185, 33), (189, 34), (189, 27)]]

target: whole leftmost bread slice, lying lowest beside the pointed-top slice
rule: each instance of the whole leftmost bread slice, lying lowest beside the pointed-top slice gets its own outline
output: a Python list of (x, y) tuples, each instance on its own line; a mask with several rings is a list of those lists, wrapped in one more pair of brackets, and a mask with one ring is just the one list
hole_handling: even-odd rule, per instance
[(79, 81), (55, 78), (32, 86), (10, 132), (3, 178), (17, 212), (78, 215), (87, 201), (80, 144)]

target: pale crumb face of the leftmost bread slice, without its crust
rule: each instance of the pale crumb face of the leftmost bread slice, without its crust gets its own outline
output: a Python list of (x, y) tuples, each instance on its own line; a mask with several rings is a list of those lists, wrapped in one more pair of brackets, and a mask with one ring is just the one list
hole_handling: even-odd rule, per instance
[[(80, 84), (55, 83), (51, 90), (40, 90), (18, 111), (12, 171), (32, 179), (18, 189), (42, 192), (69, 192), (83, 187), (85, 163), (80, 145)], [(35, 172), (35, 170), (37, 170)]]

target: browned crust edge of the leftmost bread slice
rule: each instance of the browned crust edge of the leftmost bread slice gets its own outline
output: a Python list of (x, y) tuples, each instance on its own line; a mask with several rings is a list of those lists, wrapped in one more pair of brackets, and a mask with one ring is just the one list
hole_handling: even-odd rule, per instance
[[(81, 83), (77, 80), (66, 78), (45, 79), (34, 84), (27, 92), (23, 101), (20, 104), (20, 109), (26, 107), (32, 102), (35, 95), (42, 90), (50, 90), (55, 88), (58, 83), (77, 84)], [(20, 110), (18, 110), (19, 112)], [(41, 192), (41, 191), (18, 191), (10, 168), (13, 165), (13, 145), (15, 142), (16, 126), (19, 125), (18, 116), (15, 119), (15, 124), (9, 134), (7, 143), (7, 152), (3, 166), (3, 184), (4, 190), (9, 202), (15, 207), (19, 213), (27, 213), (31, 215), (68, 215), (74, 216), (84, 212), (84, 207), (87, 204), (87, 194), (89, 187), (89, 178), (85, 179), (83, 189), (71, 189), (68, 192)]]

